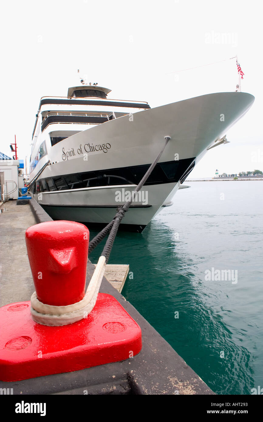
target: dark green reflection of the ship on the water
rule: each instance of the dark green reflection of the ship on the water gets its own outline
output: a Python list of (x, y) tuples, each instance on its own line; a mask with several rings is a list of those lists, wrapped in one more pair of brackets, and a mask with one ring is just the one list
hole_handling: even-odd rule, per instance
[(250, 394), (254, 358), (236, 342), (246, 333), (225, 323), (232, 311), (216, 306), (225, 300), (224, 289), (215, 293), (204, 282), (195, 256), (183, 256), (171, 227), (155, 219), (141, 234), (118, 233), (109, 263), (130, 264), (122, 294), (214, 392)]

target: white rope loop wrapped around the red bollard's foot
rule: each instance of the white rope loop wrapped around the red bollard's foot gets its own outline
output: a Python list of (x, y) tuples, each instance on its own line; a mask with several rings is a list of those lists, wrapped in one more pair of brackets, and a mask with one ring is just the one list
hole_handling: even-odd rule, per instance
[(72, 305), (47, 305), (38, 300), (36, 292), (31, 296), (31, 315), (35, 322), (42, 325), (67, 325), (87, 316), (95, 306), (100, 284), (106, 268), (106, 257), (101, 256), (92, 275), (83, 299)]

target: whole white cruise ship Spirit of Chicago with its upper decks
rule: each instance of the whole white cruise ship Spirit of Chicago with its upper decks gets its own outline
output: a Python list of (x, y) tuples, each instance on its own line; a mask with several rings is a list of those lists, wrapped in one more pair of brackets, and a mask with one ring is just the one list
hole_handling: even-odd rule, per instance
[(203, 155), (227, 142), (225, 133), (255, 99), (244, 92), (219, 92), (151, 108), (144, 101), (109, 99), (110, 92), (81, 79), (79, 86), (68, 88), (67, 97), (40, 100), (30, 156), (30, 181), (36, 179), (31, 193), (52, 219), (105, 226), (130, 199), (169, 136), (120, 225), (141, 233), (163, 207), (172, 205)]

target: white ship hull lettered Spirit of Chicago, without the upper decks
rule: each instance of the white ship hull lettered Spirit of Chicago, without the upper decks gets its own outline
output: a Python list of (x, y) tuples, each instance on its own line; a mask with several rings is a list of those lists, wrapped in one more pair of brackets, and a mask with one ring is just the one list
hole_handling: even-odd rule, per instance
[(142, 188), (144, 197), (133, 202), (122, 220), (124, 228), (141, 231), (163, 206), (169, 205), (187, 171), (248, 111), (253, 101), (252, 95), (243, 92), (203, 95), (83, 130), (50, 147), (30, 179), (50, 160), (40, 180), (75, 173), (87, 173), (88, 179), (97, 170), (104, 170), (107, 176), (121, 169), (123, 173), (119, 174), (125, 174), (129, 182), (80, 189), (71, 184), (71, 189), (35, 193), (34, 197), (53, 219), (106, 225), (116, 214), (116, 208), (124, 203), (123, 195), (133, 191), (138, 183), (133, 179), (130, 184), (127, 175), (138, 168), (140, 177), (135, 176), (140, 180), (168, 135), (171, 140), (159, 160), (164, 179), (158, 175), (149, 178)]

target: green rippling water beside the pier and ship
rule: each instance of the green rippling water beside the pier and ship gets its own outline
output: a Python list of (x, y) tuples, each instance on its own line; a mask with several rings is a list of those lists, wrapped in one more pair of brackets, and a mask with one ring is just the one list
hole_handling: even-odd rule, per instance
[[(214, 392), (251, 394), (263, 388), (263, 181), (189, 184), (143, 233), (118, 233), (108, 263), (130, 264), (122, 294)], [(206, 281), (212, 267), (237, 283)]]

